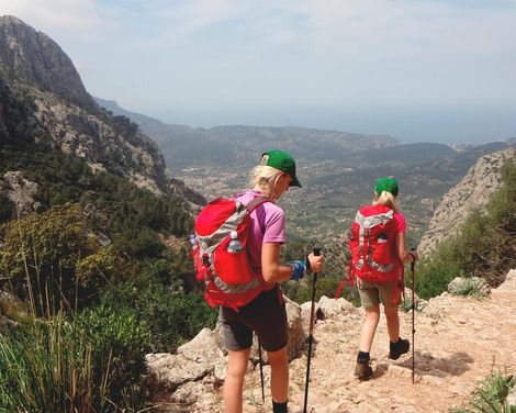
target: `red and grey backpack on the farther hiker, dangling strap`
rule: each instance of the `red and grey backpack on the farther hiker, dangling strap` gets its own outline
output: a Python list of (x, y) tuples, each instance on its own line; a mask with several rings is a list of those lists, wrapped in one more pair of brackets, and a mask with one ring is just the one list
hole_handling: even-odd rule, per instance
[[(351, 224), (348, 247), (351, 259), (348, 279), (370, 282), (394, 281), (403, 277), (403, 265), (396, 249), (394, 211), (385, 205), (366, 205), (358, 210)], [(337, 298), (344, 288), (341, 282)]]

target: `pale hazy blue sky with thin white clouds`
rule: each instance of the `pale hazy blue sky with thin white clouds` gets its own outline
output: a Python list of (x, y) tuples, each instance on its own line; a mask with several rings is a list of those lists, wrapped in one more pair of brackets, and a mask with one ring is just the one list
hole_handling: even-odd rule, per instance
[(0, 0), (0, 10), (66, 46), (106, 98), (516, 100), (514, 0)]

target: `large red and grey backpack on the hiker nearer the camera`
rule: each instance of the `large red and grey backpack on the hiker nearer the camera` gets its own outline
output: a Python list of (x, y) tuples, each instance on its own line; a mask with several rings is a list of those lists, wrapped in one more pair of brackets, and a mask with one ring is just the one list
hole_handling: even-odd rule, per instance
[(204, 299), (211, 306), (238, 310), (263, 290), (261, 269), (251, 267), (247, 242), (249, 214), (265, 202), (271, 201), (258, 197), (244, 204), (236, 199), (217, 198), (199, 213), (191, 238), (192, 257), (197, 278), (205, 282)]

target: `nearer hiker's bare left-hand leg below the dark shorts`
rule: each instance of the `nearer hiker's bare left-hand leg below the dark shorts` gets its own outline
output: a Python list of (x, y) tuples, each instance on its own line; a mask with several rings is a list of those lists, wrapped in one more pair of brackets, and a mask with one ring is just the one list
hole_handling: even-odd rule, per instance
[(228, 350), (227, 372), (224, 380), (224, 406), (226, 413), (243, 412), (244, 378), (250, 348), (238, 351)]

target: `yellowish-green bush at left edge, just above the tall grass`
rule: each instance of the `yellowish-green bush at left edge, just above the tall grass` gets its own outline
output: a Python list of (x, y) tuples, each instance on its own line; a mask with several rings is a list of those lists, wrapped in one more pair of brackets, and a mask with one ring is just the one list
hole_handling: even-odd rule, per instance
[(102, 247), (91, 235), (78, 204), (10, 221), (2, 225), (0, 235), (0, 271), (9, 276), (13, 292), (26, 299), (37, 315), (80, 309), (123, 275), (121, 255)]

